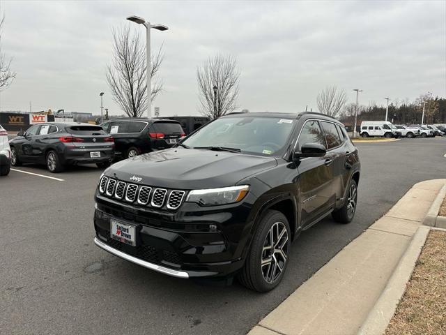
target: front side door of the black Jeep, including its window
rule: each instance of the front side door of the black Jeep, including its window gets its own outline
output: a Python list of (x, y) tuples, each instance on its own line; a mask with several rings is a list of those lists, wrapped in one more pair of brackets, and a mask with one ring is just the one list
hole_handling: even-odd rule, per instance
[[(307, 143), (326, 147), (325, 136), (317, 120), (308, 120), (302, 126), (298, 138), (298, 149)], [(300, 204), (302, 227), (312, 225), (327, 212), (334, 202), (332, 187), (332, 166), (330, 158), (307, 157), (298, 163), (300, 175)]]

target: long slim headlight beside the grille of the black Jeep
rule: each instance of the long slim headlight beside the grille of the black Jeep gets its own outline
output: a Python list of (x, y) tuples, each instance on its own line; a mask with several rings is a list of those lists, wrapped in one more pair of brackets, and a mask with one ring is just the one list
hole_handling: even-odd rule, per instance
[(239, 202), (248, 194), (249, 186), (231, 186), (193, 190), (187, 195), (187, 202), (197, 202), (201, 206), (215, 206), (216, 204), (231, 204)]

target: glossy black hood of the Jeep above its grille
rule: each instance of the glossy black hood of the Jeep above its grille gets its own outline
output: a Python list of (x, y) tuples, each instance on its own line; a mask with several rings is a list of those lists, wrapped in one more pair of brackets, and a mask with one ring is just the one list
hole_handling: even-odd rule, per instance
[(125, 159), (105, 174), (123, 181), (134, 176), (131, 181), (136, 184), (190, 190), (233, 186), (276, 165), (274, 157), (177, 147)]

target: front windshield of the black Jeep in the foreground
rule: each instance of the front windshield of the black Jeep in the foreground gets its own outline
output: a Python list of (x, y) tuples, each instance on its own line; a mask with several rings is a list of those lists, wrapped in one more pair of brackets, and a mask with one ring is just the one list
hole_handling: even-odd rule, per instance
[(272, 155), (284, 149), (296, 120), (272, 117), (223, 117), (182, 142), (189, 147), (223, 147)]

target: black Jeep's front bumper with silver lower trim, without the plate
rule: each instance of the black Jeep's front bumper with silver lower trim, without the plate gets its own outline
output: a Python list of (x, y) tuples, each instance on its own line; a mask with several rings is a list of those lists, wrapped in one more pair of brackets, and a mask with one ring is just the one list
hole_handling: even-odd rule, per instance
[[(247, 231), (251, 228), (247, 204), (216, 212), (184, 203), (178, 211), (167, 213), (105, 198), (99, 193), (95, 200), (94, 226), (101, 244), (95, 243), (109, 253), (180, 278), (224, 277), (243, 267)], [(110, 237), (112, 218), (137, 225), (137, 246)]]

